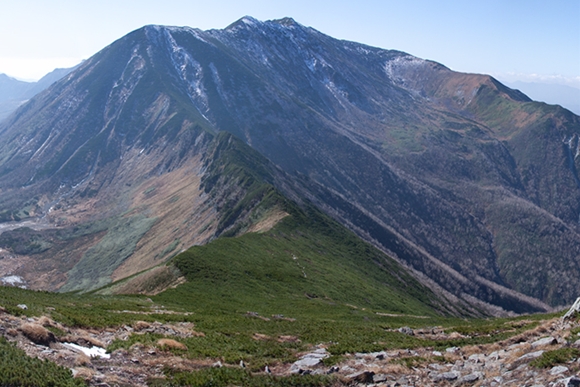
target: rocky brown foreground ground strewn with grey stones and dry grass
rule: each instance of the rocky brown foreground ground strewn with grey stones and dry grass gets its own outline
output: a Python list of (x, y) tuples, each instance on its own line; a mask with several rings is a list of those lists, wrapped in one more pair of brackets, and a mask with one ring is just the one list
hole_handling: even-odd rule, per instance
[[(533, 330), (505, 341), (436, 351), (433, 348), (397, 349), (376, 353), (345, 355), (333, 366), (325, 366), (329, 357), (324, 344), (297, 354), (292, 364), (278, 364), (265, 369), (273, 375), (334, 374), (336, 385), (369, 386), (580, 386), (580, 357), (555, 361), (544, 368), (534, 364), (555, 350), (580, 349), (580, 321), (577, 318), (554, 318), (543, 321)], [(57, 339), (45, 327), (64, 332)], [(401, 328), (411, 335), (449, 339), (459, 334), (442, 329)], [(115, 339), (146, 332), (164, 335), (154, 346), (133, 345), (105, 357), (88, 356), (80, 347), (106, 348)], [(137, 322), (118, 329), (84, 330), (65, 327), (48, 317), (27, 318), (0, 312), (0, 334), (15, 342), (29, 356), (48, 359), (68, 367), (76, 377), (92, 386), (146, 386), (151, 377), (163, 378), (165, 367), (197, 370), (204, 367), (241, 367), (222, 364), (220, 359), (187, 359), (174, 355), (180, 337), (203, 335), (191, 323), (161, 324)], [(256, 333), (255, 339), (264, 335)], [(77, 347), (71, 346), (72, 343)], [(104, 353), (104, 351), (102, 352)], [(328, 362), (327, 362), (328, 363)]]

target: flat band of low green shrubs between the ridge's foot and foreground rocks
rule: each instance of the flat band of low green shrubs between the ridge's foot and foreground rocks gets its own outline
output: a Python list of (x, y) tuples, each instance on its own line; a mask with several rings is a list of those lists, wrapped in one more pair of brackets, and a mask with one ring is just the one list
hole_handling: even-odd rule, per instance
[[(191, 293), (190, 293), (191, 292)], [(205, 336), (178, 339), (187, 345), (187, 351), (175, 350), (178, 356), (194, 359), (220, 359), (226, 364), (236, 365), (240, 359), (248, 364), (248, 371), (262, 370), (265, 364), (275, 365), (296, 360), (296, 354), (313, 344), (326, 343), (334, 355), (329, 364), (340, 360), (344, 353), (378, 351), (393, 348), (414, 348), (419, 346), (444, 349), (450, 346), (481, 344), (503, 340), (516, 335), (537, 324), (545, 316), (523, 316), (517, 319), (466, 320), (452, 317), (432, 316), (417, 318), (412, 316), (382, 316), (373, 310), (363, 310), (341, 303), (331, 303), (324, 299), (303, 298), (293, 304), (280, 303), (257, 310), (262, 315), (289, 311), (290, 319), (269, 319), (251, 317), (244, 307), (256, 306), (256, 300), (238, 304), (228, 297), (225, 291), (196, 292), (191, 284), (182, 285), (175, 291), (153, 297), (153, 302), (144, 296), (98, 296), (95, 294), (55, 294), (33, 292), (18, 288), (0, 287), (0, 305), (13, 314), (27, 316), (51, 315), (56, 321), (77, 327), (119, 327), (137, 320), (195, 323), (195, 330)], [(250, 297), (250, 295), (247, 295)], [(281, 300), (283, 301), (283, 300)], [(29, 309), (21, 310), (16, 305), (25, 303)], [(268, 309), (270, 308), (270, 310)], [(193, 311), (193, 314), (137, 314), (154, 310)], [(133, 313), (132, 313), (133, 312)], [(518, 322), (526, 319), (527, 321)], [(424, 340), (408, 336), (392, 329), (408, 325), (411, 327), (443, 326), (446, 331), (469, 335), (465, 338), (445, 341)], [(261, 339), (254, 334), (260, 333)], [(282, 336), (295, 336), (300, 341), (279, 342)], [(130, 348), (139, 342), (145, 346), (155, 346), (161, 336), (154, 334), (133, 335), (127, 341), (116, 341), (109, 351), (117, 348)], [(0, 343), (0, 351), (4, 344)], [(24, 353), (14, 354), (13, 362), (29, 362)], [(17, 365), (22, 369), (20, 365)], [(166, 370), (167, 376), (174, 381), (172, 385), (204, 385), (204, 380), (214, 380), (216, 385), (244, 384), (261, 385), (303, 385), (324, 383), (313, 379), (268, 379), (262, 380), (245, 371), (236, 369), (206, 369), (198, 372), (177, 372)], [(216, 374), (217, 373), (217, 374)], [(1, 374), (0, 374), (1, 376)], [(0, 381), (5, 381), (0, 377)], [(238, 383), (243, 380), (243, 383)], [(166, 385), (159, 381), (159, 385)]]

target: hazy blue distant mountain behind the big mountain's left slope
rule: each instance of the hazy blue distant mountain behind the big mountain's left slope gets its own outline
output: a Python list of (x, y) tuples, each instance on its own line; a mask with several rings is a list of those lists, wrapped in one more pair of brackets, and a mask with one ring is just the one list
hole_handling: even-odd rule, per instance
[(0, 121), (8, 117), (25, 101), (69, 74), (72, 70), (74, 70), (74, 67), (55, 69), (37, 82), (19, 81), (6, 74), (0, 74)]

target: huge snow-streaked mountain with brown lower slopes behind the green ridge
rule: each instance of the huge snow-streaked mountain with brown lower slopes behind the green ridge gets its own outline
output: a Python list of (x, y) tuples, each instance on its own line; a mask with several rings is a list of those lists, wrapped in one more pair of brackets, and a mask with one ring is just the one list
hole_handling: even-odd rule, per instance
[(255, 176), (220, 177), (235, 164), (212, 155), (238, 138), (277, 192), (438, 294), (548, 310), (580, 285), (579, 134), (577, 115), (492, 77), (290, 18), (146, 26), (0, 124), (4, 273), (92, 289), (277, 224), (256, 215)]

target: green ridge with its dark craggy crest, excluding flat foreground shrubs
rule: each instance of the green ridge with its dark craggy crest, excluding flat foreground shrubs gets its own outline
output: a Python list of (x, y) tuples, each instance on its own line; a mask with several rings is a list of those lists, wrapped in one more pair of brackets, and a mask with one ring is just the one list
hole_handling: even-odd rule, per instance
[(233, 304), (274, 309), (324, 299), (392, 313), (434, 313), (435, 295), (313, 206), (300, 208), (284, 198), (270, 183), (275, 168), (235, 137), (220, 134), (209, 160), (206, 192), (224, 195), (236, 187), (235, 200), (220, 202), (218, 228), (225, 235), (239, 235), (273, 211), (289, 216), (268, 232), (219, 238), (179, 255), (175, 265), (189, 280), (187, 292), (210, 293), (204, 298), (218, 292)]

